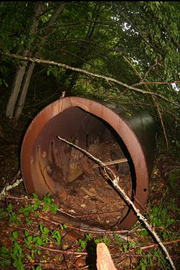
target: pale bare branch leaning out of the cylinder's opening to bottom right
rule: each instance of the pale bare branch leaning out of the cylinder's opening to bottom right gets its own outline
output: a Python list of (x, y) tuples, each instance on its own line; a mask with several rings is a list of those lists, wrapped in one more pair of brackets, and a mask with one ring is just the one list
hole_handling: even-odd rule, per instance
[(69, 142), (67, 140), (64, 140), (63, 138), (57, 136), (59, 140), (66, 142), (68, 145), (71, 145), (73, 147), (75, 147), (76, 149), (80, 150), (81, 152), (84, 152), (85, 155), (91, 157), (91, 159), (93, 159), (95, 162), (97, 162), (99, 165), (104, 166), (104, 170), (105, 171), (109, 171), (111, 172), (111, 175), (113, 176), (113, 179), (111, 179), (111, 177), (109, 177), (109, 174), (106, 172), (106, 176), (109, 178), (109, 180), (111, 181), (112, 185), (114, 186), (114, 188), (119, 191), (119, 193), (121, 194), (121, 196), (125, 199), (125, 201), (128, 204), (131, 204), (131, 207), (134, 209), (134, 212), (136, 213), (136, 216), (139, 217), (139, 219), (141, 220), (141, 222), (143, 222), (146, 226), (146, 228), (149, 230), (149, 232), (151, 232), (151, 234), (154, 236), (154, 238), (156, 239), (156, 242), (158, 242), (159, 246), (161, 246), (161, 249), (164, 251), (164, 254), (166, 254), (166, 259), (169, 260), (172, 269), (176, 270), (176, 267), (174, 266), (174, 262), (171, 260), (171, 256), (169, 255), (169, 252), (166, 249), (166, 246), (164, 246), (164, 244), (161, 242), (161, 239), (159, 238), (158, 234), (156, 234), (155, 230), (153, 227), (151, 227), (151, 225), (146, 221), (145, 217), (139, 212), (139, 209), (136, 208), (136, 206), (134, 205), (134, 202), (131, 201), (131, 199), (129, 199), (129, 197), (126, 195), (126, 193), (124, 192), (124, 189), (121, 189), (121, 187), (119, 187), (118, 185), (118, 180), (119, 177), (117, 177), (115, 175), (115, 173), (109, 168), (107, 167), (104, 162), (102, 162), (101, 160), (99, 160), (98, 158), (94, 157), (94, 155), (91, 155), (89, 152), (87, 152), (86, 150), (82, 149), (81, 147), (74, 145), (72, 142)]

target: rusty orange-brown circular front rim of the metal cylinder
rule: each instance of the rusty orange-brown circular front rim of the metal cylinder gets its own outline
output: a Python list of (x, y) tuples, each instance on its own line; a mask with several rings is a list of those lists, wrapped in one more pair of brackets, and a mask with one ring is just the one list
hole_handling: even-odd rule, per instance
[[(126, 123), (118, 113), (114, 112), (114, 110), (111, 110), (111, 108), (108, 108), (104, 104), (86, 98), (68, 97), (56, 100), (54, 103), (51, 103), (44, 108), (44, 110), (41, 110), (41, 112), (32, 121), (26, 135), (24, 136), (21, 148), (21, 171), (26, 191), (29, 193), (35, 192), (34, 181), (36, 180), (31, 177), (31, 148), (32, 145), (34, 145), (36, 137), (51, 118), (54, 118), (54, 116), (62, 113), (67, 108), (74, 106), (79, 107), (109, 123), (109, 125), (124, 141), (124, 144), (131, 155), (131, 160), (134, 163), (136, 173), (136, 195), (134, 204), (140, 211), (142, 211), (148, 198), (149, 172), (141, 144), (134, 131), (131, 130), (128, 123)], [(124, 220), (119, 224), (119, 229), (129, 229), (136, 223), (136, 221), (136, 214), (134, 214), (134, 211), (131, 209)]]

